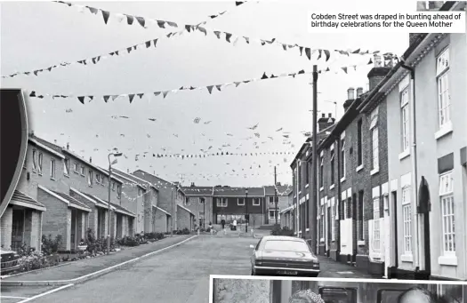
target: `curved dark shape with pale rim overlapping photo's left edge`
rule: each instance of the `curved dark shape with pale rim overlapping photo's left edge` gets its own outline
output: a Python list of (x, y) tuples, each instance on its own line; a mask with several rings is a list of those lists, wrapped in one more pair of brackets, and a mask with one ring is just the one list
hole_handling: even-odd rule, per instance
[(20, 89), (0, 90), (0, 216), (10, 203), (28, 148), (28, 117)]

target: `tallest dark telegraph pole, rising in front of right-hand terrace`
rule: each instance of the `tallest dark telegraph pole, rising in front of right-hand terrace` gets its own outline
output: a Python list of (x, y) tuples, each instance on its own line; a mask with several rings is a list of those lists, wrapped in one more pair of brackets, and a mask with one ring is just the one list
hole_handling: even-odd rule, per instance
[(317, 197), (317, 185), (318, 185), (318, 155), (317, 155), (317, 140), (318, 140), (318, 66), (313, 65), (313, 141), (312, 141), (312, 162), (311, 162), (311, 186), (310, 186), (310, 200), (309, 205), (309, 213), (310, 213), (310, 239), (311, 243), (310, 246), (313, 248), (315, 253), (317, 251), (317, 208), (318, 208), (318, 197)]

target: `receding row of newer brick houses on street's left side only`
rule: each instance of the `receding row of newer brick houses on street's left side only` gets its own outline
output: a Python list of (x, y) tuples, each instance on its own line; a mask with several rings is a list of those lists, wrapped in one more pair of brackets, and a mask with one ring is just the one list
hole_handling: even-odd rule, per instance
[[(31, 133), (18, 186), (0, 219), (0, 243), (13, 251), (22, 244), (40, 250), (42, 235), (60, 235), (60, 251), (73, 251), (88, 228), (97, 238), (193, 230), (195, 214), (184, 206), (181, 186), (152, 177), (115, 168), (109, 175), (69, 145)], [(167, 190), (173, 199), (167, 200)]]

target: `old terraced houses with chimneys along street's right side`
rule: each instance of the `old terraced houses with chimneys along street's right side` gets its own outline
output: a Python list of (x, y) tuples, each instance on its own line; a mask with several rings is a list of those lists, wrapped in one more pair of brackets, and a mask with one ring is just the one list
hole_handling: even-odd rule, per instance
[(372, 274), (467, 280), (466, 53), (465, 34), (411, 34), (397, 64), (375, 55), (369, 91), (350, 88), (342, 118), (318, 120), (316, 204), (311, 140), (291, 163), (282, 224)]

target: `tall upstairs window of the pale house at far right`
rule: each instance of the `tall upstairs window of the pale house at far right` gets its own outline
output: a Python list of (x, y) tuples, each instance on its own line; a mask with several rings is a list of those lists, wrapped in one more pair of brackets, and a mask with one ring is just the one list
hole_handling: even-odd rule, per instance
[(436, 76), (438, 84), (439, 128), (451, 121), (449, 100), (449, 49), (441, 52), (437, 58)]

